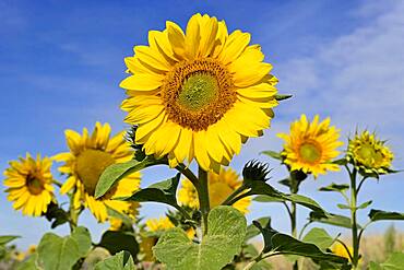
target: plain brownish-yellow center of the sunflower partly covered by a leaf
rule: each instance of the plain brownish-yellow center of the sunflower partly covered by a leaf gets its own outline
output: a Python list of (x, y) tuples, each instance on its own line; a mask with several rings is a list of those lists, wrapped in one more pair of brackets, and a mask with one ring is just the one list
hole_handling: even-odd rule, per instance
[(88, 149), (78, 156), (76, 172), (87, 193), (94, 196), (99, 176), (114, 163), (114, 157), (100, 150)]

